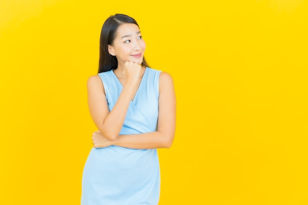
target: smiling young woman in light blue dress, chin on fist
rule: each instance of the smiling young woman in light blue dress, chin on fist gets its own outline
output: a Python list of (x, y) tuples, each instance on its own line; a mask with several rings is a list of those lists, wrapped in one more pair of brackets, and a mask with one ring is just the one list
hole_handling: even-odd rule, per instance
[(87, 82), (99, 131), (82, 179), (82, 205), (157, 205), (156, 148), (172, 145), (176, 97), (172, 77), (149, 68), (137, 22), (110, 16), (100, 35), (98, 75)]

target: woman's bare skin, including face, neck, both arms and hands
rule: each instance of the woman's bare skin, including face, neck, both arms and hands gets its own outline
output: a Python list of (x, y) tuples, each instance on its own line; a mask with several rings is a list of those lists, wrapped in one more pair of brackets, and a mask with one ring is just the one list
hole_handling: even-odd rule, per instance
[(174, 139), (176, 127), (176, 96), (170, 74), (161, 72), (159, 76), (158, 124), (157, 131), (119, 135), (131, 100), (140, 85), (145, 67), (142, 63), (146, 44), (135, 24), (122, 24), (117, 30), (112, 45), (108, 45), (110, 55), (118, 59), (114, 73), (123, 85), (123, 90), (112, 111), (109, 111), (104, 86), (98, 75), (88, 79), (88, 105), (91, 117), (99, 131), (92, 134), (96, 148), (111, 145), (127, 148), (149, 149), (169, 148)]

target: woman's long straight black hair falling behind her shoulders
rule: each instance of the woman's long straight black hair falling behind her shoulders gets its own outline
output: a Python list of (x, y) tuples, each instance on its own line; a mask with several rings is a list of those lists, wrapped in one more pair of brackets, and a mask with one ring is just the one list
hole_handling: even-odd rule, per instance
[[(116, 32), (121, 24), (131, 23), (138, 26), (135, 19), (125, 15), (116, 14), (110, 16), (103, 24), (100, 32), (99, 40), (99, 64), (98, 73), (110, 71), (118, 67), (118, 59), (112, 56), (108, 52), (108, 45), (113, 45), (113, 41), (116, 37)], [(143, 57), (142, 66), (149, 67), (146, 59)]]

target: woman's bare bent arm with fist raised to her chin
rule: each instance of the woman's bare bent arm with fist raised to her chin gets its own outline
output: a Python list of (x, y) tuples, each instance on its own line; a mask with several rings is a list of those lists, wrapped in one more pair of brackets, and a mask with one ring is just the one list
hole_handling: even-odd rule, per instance
[(126, 82), (111, 112), (108, 109), (104, 86), (100, 77), (94, 75), (88, 79), (87, 88), (90, 115), (98, 130), (108, 140), (115, 140), (123, 127), (127, 109), (140, 76), (141, 67), (140, 70), (137, 68), (137, 71), (134, 69), (136, 69), (136, 65), (134, 64), (125, 66)]

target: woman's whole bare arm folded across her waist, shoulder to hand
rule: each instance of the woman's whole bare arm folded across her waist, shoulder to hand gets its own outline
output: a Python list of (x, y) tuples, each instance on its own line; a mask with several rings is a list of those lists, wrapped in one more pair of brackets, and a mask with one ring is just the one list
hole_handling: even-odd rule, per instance
[(135, 149), (169, 148), (175, 135), (176, 127), (176, 96), (173, 79), (170, 74), (161, 72), (159, 75), (158, 122), (157, 131), (119, 135), (110, 141), (100, 132), (94, 132), (92, 141), (94, 147), (123, 146)]

